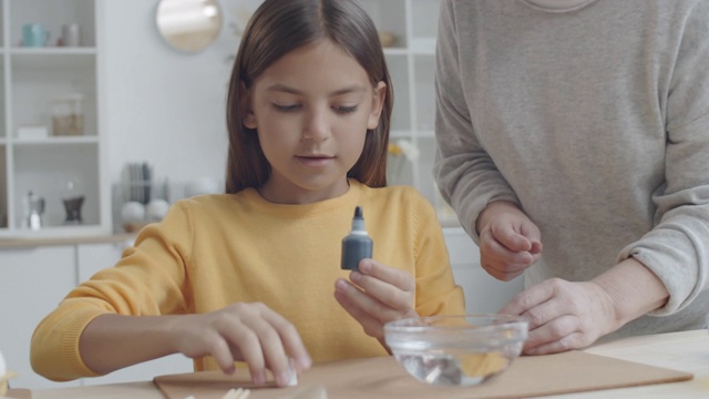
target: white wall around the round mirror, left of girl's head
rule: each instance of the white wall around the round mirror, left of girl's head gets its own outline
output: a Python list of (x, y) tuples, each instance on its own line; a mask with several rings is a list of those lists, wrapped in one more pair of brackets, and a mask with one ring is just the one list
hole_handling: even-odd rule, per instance
[[(105, 130), (111, 182), (126, 162), (148, 162), (158, 177), (223, 181), (226, 165), (227, 58), (238, 38), (229, 27), (253, 0), (219, 0), (219, 38), (196, 54), (169, 48), (155, 25), (157, 0), (104, 1)], [(244, 6), (246, 4), (246, 6)]]

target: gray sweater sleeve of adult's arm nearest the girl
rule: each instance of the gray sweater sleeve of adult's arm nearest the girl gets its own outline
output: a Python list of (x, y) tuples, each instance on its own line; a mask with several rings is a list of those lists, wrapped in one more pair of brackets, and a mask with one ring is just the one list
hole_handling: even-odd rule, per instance
[(433, 166), (443, 198), (451, 204), (467, 234), (479, 243), (475, 221), (494, 201), (520, 204), (514, 191), (475, 135), (464, 85), (459, 45), (473, 38), (459, 37), (453, 3), (441, 2), (435, 58), (435, 139)]

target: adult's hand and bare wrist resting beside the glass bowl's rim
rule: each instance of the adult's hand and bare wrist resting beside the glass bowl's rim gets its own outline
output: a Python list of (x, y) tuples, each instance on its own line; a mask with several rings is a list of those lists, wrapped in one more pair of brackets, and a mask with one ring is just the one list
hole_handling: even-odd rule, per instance
[(667, 303), (662, 282), (628, 258), (590, 282), (552, 278), (517, 294), (500, 310), (530, 321), (527, 355), (585, 348)]

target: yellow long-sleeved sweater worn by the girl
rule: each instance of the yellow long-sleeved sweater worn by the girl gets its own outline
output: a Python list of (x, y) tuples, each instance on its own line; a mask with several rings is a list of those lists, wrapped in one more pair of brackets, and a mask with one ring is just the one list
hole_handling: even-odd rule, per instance
[[(208, 313), (261, 301), (298, 329), (314, 361), (384, 356), (379, 341), (333, 297), (341, 239), (354, 207), (364, 211), (372, 258), (415, 276), (422, 316), (464, 313), (443, 234), (431, 205), (410, 187), (371, 188), (350, 181), (347, 194), (279, 205), (254, 190), (177, 202), (145, 227), (114, 266), (73, 289), (37, 327), (34, 370), (54, 380), (96, 376), (81, 360), (79, 337), (96, 316)], [(210, 358), (195, 369), (217, 369)]]

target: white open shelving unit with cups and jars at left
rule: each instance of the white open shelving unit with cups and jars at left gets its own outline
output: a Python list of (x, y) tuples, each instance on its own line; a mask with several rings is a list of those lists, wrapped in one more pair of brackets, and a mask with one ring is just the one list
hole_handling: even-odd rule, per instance
[[(0, 237), (111, 233), (100, 101), (103, 1), (0, 0)], [(30, 24), (45, 32), (45, 45), (23, 45)], [(72, 24), (79, 47), (58, 45), (62, 27)], [(44, 200), (39, 229), (28, 224), (30, 192)], [(81, 223), (68, 223), (63, 200), (81, 196)]]

